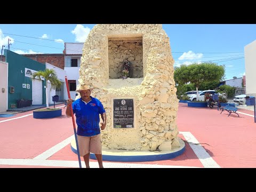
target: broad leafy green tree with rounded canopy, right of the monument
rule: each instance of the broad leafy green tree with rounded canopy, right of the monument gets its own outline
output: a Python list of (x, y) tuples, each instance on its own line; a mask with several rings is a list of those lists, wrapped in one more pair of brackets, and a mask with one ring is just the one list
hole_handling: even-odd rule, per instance
[(174, 80), (178, 84), (194, 83), (197, 91), (202, 83), (221, 81), (225, 77), (225, 67), (217, 63), (204, 62), (201, 64), (193, 63), (191, 65), (181, 65), (175, 67)]

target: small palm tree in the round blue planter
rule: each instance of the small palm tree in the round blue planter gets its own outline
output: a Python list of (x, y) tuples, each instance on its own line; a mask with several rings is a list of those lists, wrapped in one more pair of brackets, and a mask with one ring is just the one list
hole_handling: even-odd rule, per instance
[(45, 82), (46, 82), (46, 89), (45, 89), (45, 94), (46, 94), (46, 107), (49, 107), (48, 103), (48, 89), (47, 89), (47, 82), (48, 80), (51, 83), (51, 87), (54, 89), (55, 87), (59, 88), (61, 86), (61, 81), (58, 79), (58, 76), (55, 72), (54, 69), (45, 69), (44, 71), (40, 70), (37, 71), (36, 73), (32, 74), (32, 80), (36, 78), (41, 78), (44, 77)]

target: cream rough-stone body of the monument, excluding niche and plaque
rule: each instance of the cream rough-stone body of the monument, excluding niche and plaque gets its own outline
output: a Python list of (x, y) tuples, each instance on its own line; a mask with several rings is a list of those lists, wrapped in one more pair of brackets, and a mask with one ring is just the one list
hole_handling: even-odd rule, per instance
[[(108, 53), (109, 39), (132, 37), (142, 37), (143, 78), (110, 79), (109, 57), (113, 56)], [(104, 148), (155, 151), (180, 146), (173, 63), (169, 37), (162, 25), (94, 26), (84, 44), (78, 82), (92, 85), (92, 96), (106, 109), (107, 126), (101, 132)], [(113, 127), (115, 98), (134, 98), (134, 128)]]

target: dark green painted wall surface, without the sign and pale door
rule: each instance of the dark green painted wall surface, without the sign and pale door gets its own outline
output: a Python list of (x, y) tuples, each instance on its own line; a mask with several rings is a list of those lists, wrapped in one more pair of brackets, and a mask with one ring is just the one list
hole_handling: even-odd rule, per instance
[[(32, 100), (32, 81), (30, 77), (25, 76), (25, 68), (36, 71), (45, 70), (45, 63), (31, 60), (10, 50), (4, 50), (4, 55), (5, 62), (8, 63), (8, 109), (10, 109), (12, 103), (15, 103), (17, 107), (17, 100), (19, 99)], [(23, 83), (29, 84), (30, 89), (22, 88)], [(42, 81), (42, 84), (44, 87), (45, 81)], [(10, 86), (14, 86), (14, 93), (10, 93)], [(43, 104), (45, 104), (44, 88)]]

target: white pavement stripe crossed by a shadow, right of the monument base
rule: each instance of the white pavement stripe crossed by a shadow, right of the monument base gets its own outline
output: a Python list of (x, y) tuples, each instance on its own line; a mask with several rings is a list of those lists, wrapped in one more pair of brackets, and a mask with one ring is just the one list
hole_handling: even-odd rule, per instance
[(189, 146), (193, 149), (194, 153), (204, 165), (205, 168), (220, 168), (220, 166), (213, 160), (213, 158), (206, 152), (206, 150), (201, 145), (195, 145), (194, 143), (199, 143), (193, 134), (190, 132), (179, 132), (183, 134), (185, 139), (188, 141)]

